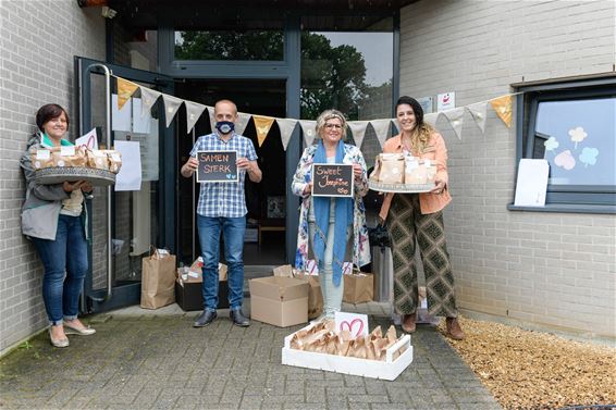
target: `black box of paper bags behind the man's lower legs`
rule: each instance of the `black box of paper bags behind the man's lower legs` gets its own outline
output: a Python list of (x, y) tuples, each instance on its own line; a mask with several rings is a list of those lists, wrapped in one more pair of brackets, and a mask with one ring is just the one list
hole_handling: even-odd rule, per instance
[[(195, 261), (197, 262), (197, 261)], [(195, 263), (189, 269), (177, 269), (175, 281), (175, 302), (185, 312), (204, 310), (204, 278), (200, 268)], [(229, 308), (229, 283), (226, 282), (226, 265), (219, 264), (218, 308)]]

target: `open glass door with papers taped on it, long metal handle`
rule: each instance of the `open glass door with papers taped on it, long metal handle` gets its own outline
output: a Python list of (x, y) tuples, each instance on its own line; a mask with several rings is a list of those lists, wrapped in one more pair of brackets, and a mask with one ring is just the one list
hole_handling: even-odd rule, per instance
[[(75, 58), (81, 135), (97, 128), (100, 148), (114, 147), (119, 141), (138, 146), (140, 171), (133, 163), (125, 162), (123, 165), (141, 174), (140, 185), (131, 190), (96, 187), (88, 203), (90, 269), (84, 285), (82, 310), (85, 312), (139, 303), (141, 259), (151, 246), (168, 248), (172, 252), (175, 248), (173, 125), (165, 127), (161, 99), (150, 112), (141, 114), (139, 91), (122, 110), (118, 110), (115, 79), (111, 77), (108, 94), (103, 65), (114, 76), (173, 94), (170, 77)], [(108, 115), (111, 115), (111, 121), (108, 121)], [(109, 134), (107, 127), (110, 127)], [(108, 246), (108, 235), (111, 246)]]

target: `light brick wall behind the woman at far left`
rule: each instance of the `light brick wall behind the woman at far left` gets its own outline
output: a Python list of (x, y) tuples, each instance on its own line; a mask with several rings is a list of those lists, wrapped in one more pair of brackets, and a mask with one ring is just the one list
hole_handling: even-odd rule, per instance
[(99, 8), (81, 10), (74, 0), (0, 1), (0, 353), (47, 325), (42, 269), (21, 233), (20, 158), (40, 105), (57, 102), (76, 112), (73, 55), (104, 59)]

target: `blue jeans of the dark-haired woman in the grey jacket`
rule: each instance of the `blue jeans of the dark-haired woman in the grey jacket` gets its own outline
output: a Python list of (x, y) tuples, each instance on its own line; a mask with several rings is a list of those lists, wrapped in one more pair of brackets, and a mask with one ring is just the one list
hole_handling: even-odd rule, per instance
[[(56, 239), (32, 238), (42, 260), (42, 300), (49, 323), (77, 318), (88, 270), (88, 248), (81, 216), (60, 215)], [(64, 275), (64, 273), (66, 275)]]

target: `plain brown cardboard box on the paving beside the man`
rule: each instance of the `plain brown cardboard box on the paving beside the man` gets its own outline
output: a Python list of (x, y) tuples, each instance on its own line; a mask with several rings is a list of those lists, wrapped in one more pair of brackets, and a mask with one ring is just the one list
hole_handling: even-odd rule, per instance
[(307, 281), (268, 276), (250, 279), (250, 316), (279, 327), (308, 322)]

